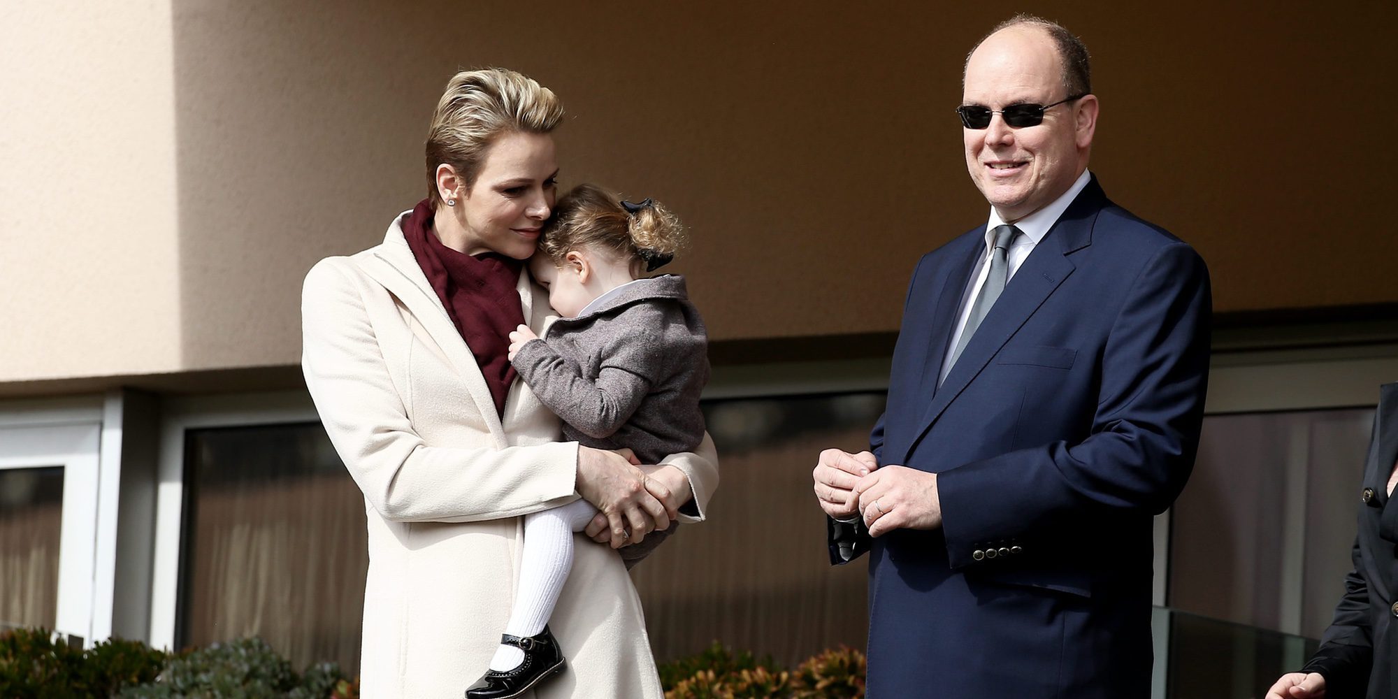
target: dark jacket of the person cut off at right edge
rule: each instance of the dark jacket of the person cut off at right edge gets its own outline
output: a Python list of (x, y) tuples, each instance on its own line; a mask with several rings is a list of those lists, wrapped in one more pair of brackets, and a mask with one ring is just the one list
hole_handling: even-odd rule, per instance
[(1388, 477), (1398, 460), (1398, 383), (1378, 390), (1359, 493), (1359, 533), (1345, 597), (1306, 672), (1325, 675), (1327, 699), (1391, 698), (1398, 691), (1398, 502)]

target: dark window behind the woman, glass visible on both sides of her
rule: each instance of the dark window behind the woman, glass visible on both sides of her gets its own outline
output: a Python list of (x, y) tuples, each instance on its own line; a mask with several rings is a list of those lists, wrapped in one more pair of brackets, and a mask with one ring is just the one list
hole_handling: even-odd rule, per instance
[[(658, 660), (714, 639), (788, 664), (863, 647), (867, 568), (830, 568), (811, 467), (867, 449), (882, 408), (884, 393), (706, 403), (723, 463), (710, 520), (633, 570)], [(363, 496), (320, 425), (189, 431), (186, 487), (179, 644), (257, 635), (294, 664), (356, 672)]]

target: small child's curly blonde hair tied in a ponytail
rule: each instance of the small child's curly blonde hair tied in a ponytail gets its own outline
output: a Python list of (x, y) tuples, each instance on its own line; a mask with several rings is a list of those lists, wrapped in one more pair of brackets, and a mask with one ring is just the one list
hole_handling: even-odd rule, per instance
[(561, 267), (570, 250), (590, 247), (629, 261), (639, 275), (668, 263), (684, 245), (679, 217), (663, 204), (647, 199), (628, 211), (615, 194), (583, 183), (554, 206), (538, 250)]

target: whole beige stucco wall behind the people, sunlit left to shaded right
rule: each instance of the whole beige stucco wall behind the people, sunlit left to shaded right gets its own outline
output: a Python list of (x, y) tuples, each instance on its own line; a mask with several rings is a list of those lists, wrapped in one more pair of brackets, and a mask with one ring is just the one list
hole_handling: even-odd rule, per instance
[[(0, 383), (296, 362), (302, 274), (422, 196), (460, 66), (559, 92), (565, 185), (684, 217), (674, 271), (717, 340), (895, 330), (916, 257), (986, 212), (951, 109), (998, 8), (330, 7), (6, 6)], [(1391, 3), (1040, 11), (1093, 50), (1093, 169), (1199, 247), (1218, 310), (1398, 302), (1398, 239), (1350, 242), (1394, 185), (1362, 136), (1391, 59), (1353, 41)]]

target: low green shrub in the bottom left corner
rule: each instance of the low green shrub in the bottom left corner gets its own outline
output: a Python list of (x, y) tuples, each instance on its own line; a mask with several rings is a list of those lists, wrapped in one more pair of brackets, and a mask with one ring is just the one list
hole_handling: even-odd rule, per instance
[(46, 629), (15, 629), (0, 633), (0, 696), (108, 698), (155, 679), (165, 658), (134, 640), (103, 640), (82, 650), (56, 643)]

